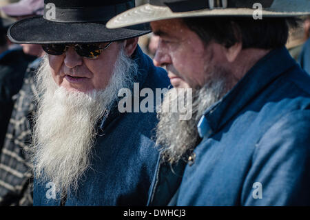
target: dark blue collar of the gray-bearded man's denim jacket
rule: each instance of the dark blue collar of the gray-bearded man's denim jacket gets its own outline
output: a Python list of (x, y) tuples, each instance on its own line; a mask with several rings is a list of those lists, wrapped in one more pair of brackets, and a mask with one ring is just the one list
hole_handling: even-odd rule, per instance
[(296, 65), (285, 47), (271, 50), (217, 103), (207, 109), (205, 119), (212, 132), (220, 130), (256, 94)]

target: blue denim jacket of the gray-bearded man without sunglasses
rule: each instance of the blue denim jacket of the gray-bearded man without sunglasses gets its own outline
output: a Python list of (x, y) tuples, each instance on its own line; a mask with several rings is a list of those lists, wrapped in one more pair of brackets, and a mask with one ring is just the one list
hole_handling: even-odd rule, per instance
[(310, 205), (310, 77), (286, 48), (258, 61), (204, 117), (174, 205)]

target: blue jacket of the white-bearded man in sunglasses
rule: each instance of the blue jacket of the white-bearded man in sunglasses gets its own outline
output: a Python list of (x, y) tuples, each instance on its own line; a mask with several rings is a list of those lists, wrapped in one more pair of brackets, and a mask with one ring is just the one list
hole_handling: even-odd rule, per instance
[[(141, 88), (155, 91), (169, 86), (165, 70), (155, 68), (140, 48), (134, 59)], [(116, 108), (96, 138), (92, 169), (65, 206), (145, 206), (158, 162), (158, 150), (151, 139), (156, 123), (156, 112), (121, 114)], [(46, 183), (34, 180), (34, 206), (59, 206), (57, 197), (45, 196), (49, 189)]]

